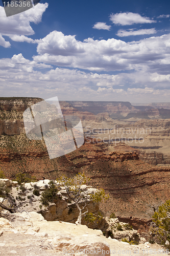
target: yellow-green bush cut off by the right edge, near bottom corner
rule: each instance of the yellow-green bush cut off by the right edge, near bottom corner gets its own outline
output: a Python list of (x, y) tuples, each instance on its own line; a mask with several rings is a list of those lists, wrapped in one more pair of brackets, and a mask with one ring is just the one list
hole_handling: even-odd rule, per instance
[(167, 200), (154, 212), (150, 232), (152, 240), (168, 247), (167, 244), (170, 243), (170, 200)]

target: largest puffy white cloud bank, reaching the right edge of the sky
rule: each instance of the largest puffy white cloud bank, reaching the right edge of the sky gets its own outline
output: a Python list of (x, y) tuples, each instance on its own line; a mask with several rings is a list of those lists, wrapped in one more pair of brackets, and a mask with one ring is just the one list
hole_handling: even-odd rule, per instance
[(170, 34), (132, 42), (114, 38), (88, 38), (82, 42), (75, 36), (53, 31), (38, 41), (37, 52), (38, 55), (33, 57), (35, 61), (60, 67), (167, 73), (170, 69)]

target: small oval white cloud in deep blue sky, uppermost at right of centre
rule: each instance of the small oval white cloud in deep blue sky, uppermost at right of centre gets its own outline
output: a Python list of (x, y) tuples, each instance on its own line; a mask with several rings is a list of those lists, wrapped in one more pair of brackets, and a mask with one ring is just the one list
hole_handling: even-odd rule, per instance
[(155, 20), (149, 17), (143, 17), (138, 13), (133, 12), (120, 12), (110, 15), (110, 20), (115, 25), (132, 25), (132, 24), (144, 24), (155, 23)]

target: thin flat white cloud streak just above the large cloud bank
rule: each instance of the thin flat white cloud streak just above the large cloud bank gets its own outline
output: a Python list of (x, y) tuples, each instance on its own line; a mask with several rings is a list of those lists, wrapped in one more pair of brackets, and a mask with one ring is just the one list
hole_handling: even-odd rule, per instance
[(157, 33), (156, 29), (139, 29), (139, 30), (134, 30), (134, 29), (129, 29), (129, 30), (124, 30), (120, 29), (117, 31), (118, 36), (123, 37), (123, 36), (130, 36), (130, 35), (150, 35), (150, 34), (155, 34)]

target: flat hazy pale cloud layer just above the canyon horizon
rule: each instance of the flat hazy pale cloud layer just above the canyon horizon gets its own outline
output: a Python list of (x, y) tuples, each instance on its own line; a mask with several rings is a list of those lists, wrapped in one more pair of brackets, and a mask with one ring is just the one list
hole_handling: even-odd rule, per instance
[[(36, 68), (36, 69), (34, 69)], [(49, 68), (41, 72), (41, 68)], [(153, 79), (155, 78), (155, 79)], [(116, 75), (89, 73), (75, 69), (52, 69), (43, 63), (30, 61), (22, 54), (0, 59), (0, 93), (2, 96), (23, 96), (59, 100), (120, 100), (135, 99), (155, 102), (169, 99), (170, 92), (157, 88), (164, 81), (169, 87), (169, 76), (137, 71)], [(119, 88), (119, 85), (124, 88)]]

